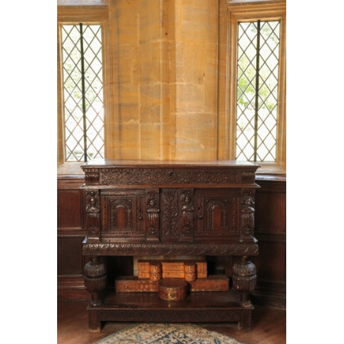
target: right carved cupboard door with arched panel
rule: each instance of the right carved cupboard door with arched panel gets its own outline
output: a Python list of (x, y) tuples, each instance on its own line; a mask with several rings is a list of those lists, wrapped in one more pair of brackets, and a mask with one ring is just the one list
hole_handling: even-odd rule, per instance
[[(207, 192), (207, 194), (206, 194)], [(239, 192), (233, 190), (197, 191), (195, 240), (239, 237)]]

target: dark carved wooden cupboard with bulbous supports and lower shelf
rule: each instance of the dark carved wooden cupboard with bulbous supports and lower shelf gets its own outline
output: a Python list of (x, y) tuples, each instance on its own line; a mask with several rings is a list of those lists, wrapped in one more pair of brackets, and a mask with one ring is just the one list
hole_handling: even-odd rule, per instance
[[(250, 331), (254, 307), (249, 293), (257, 279), (250, 256), (258, 255), (254, 236), (258, 167), (228, 161), (84, 164), (89, 330), (101, 330), (102, 321), (235, 321), (240, 330)], [(179, 301), (166, 301), (157, 292), (107, 290), (103, 256), (192, 256), (209, 264), (233, 256), (235, 263), (223, 269), (232, 272), (228, 290), (200, 290)]]

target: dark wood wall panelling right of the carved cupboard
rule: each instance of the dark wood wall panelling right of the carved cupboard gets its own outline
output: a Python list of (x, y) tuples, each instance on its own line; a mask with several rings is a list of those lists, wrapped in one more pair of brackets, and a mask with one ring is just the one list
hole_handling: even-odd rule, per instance
[(258, 177), (255, 237), (259, 256), (257, 287), (252, 292), (258, 303), (286, 307), (286, 178)]

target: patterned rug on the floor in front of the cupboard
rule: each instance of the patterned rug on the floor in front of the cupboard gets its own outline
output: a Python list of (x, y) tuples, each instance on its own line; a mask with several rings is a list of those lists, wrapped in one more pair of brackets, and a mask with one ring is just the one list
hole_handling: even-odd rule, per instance
[(243, 344), (233, 338), (188, 323), (140, 323), (94, 344)]

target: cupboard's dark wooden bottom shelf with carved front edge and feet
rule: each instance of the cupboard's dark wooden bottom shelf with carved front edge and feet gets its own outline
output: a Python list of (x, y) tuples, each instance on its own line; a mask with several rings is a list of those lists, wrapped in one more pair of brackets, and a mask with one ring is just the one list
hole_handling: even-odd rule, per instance
[(89, 330), (100, 331), (101, 321), (238, 322), (250, 331), (252, 305), (243, 307), (240, 295), (229, 292), (193, 292), (180, 301), (164, 301), (157, 292), (108, 292), (103, 305), (88, 306)]

